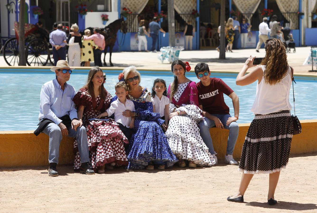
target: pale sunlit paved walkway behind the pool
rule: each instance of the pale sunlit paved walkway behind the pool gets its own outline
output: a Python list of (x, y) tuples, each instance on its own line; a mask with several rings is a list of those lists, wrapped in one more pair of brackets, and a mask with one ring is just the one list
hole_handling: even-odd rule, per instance
[[(296, 53), (288, 53), (288, 63), (293, 66), (296, 74), (315, 75), (317, 72), (308, 72), (311, 66), (302, 65), (307, 58), (310, 47), (296, 47)], [(219, 52), (216, 50), (194, 50), (194, 51), (181, 51), (179, 59), (188, 61), (191, 64), (192, 70), (199, 62), (209, 64), (212, 71), (230, 71), (238, 72), (242, 68), (248, 56), (264, 57), (265, 50), (260, 49), (256, 52), (255, 49), (234, 50), (234, 52), (226, 52), (226, 59), (219, 60)], [(109, 53), (106, 55), (107, 68), (123, 69), (129, 65), (135, 65), (137, 69), (150, 69), (150, 70), (170, 70), (170, 64), (162, 64), (159, 59), (159, 52), (114, 52), (112, 54), (112, 62), (114, 67), (109, 66)], [(102, 55), (103, 57), (103, 55)], [(2, 54), (0, 55), (0, 67), (6, 67)], [(52, 66), (48, 63), (48, 66)], [(94, 66), (94, 63), (91, 63)], [(314, 67), (316, 70), (316, 67)]]

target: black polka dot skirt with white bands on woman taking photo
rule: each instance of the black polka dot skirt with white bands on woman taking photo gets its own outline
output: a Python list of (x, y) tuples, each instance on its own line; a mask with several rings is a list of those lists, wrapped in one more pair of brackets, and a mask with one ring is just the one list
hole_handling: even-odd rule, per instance
[(245, 137), (239, 171), (274, 173), (286, 168), (293, 137), (289, 110), (256, 114)]

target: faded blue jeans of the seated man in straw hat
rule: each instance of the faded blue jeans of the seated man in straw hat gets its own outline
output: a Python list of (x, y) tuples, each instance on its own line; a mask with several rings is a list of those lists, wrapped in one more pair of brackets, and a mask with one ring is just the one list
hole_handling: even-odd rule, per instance
[[(87, 132), (84, 126), (77, 127), (74, 131), (72, 127), (68, 127), (68, 137), (76, 137), (78, 143), (78, 151), (80, 155), (80, 162), (89, 162), (89, 150), (87, 142)], [(55, 123), (49, 123), (43, 130), (49, 136), (49, 163), (57, 163), (59, 157), (59, 146), (61, 143), (61, 128)]]

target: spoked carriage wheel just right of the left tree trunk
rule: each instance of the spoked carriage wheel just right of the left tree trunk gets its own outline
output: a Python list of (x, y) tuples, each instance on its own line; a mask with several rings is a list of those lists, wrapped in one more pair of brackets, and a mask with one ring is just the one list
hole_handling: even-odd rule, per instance
[(33, 39), (26, 46), (25, 55), (29, 66), (45, 66), (49, 61), (49, 46), (42, 39)]

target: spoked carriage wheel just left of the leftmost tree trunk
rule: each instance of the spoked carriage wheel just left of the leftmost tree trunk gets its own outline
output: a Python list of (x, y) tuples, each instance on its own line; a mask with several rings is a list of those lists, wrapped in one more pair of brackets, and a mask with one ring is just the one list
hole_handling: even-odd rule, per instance
[(16, 38), (7, 40), (3, 46), (3, 57), (9, 66), (19, 65), (19, 42)]

